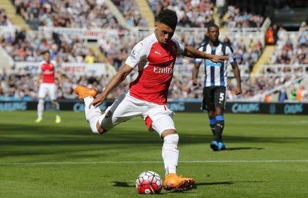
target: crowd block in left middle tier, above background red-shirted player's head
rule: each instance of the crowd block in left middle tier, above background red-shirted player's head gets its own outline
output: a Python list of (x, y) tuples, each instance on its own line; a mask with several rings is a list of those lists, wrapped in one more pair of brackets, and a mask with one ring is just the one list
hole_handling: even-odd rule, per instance
[(83, 40), (55, 33), (53, 38), (48, 39), (39, 34), (30, 36), (23, 29), (16, 30), (14, 35), (0, 35), (0, 45), (14, 61), (39, 62), (45, 50), (51, 51), (51, 58), (57, 62), (95, 62), (98, 60)]

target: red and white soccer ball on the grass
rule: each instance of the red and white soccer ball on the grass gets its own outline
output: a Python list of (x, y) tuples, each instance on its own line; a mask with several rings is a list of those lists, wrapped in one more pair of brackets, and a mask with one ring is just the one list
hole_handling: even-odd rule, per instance
[(162, 177), (153, 171), (144, 171), (137, 177), (136, 188), (140, 194), (160, 193)]

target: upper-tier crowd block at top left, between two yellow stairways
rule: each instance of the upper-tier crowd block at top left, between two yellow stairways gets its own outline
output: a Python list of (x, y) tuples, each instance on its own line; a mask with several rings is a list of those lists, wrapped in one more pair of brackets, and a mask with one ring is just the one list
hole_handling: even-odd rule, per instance
[(49, 27), (118, 28), (112, 12), (97, 0), (12, 0), (16, 14), (25, 18), (32, 29)]

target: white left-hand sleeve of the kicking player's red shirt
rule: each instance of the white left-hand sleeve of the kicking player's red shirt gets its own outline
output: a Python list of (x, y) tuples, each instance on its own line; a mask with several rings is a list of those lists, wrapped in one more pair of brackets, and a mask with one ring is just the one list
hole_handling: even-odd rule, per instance
[(143, 41), (140, 41), (133, 47), (131, 53), (129, 53), (125, 64), (131, 66), (131, 68), (135, 68), (140, 62), (146, 60), (148, 53), (149, 51), (144, 46)]

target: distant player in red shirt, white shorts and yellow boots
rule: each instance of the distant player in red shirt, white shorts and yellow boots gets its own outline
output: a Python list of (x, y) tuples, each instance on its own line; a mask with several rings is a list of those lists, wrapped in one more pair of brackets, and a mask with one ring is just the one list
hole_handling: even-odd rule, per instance
[[(36, 123), (42, 122), (42, 116), (44, 112), (44, 98), (48, 95), (51, 100), (51, 105), (56, 111), (55, 123), (61, 123), (60, 117), (60, 105), (56, 101), (57, 99), (57, 86), (55, 85), (55, 73), (57, 73), (55, 68), (55, 62), (50, 60), (49, 51), (44, 51), (44, 60), (40, 62), (38, 82), (40, 83), (40, 88), (38, 89), (38, 119)], [(62, 84), (62, 79), (60, 73), (57, 73), (59, 85)], [(41, 82), (40, 82), (41, 81)]]

